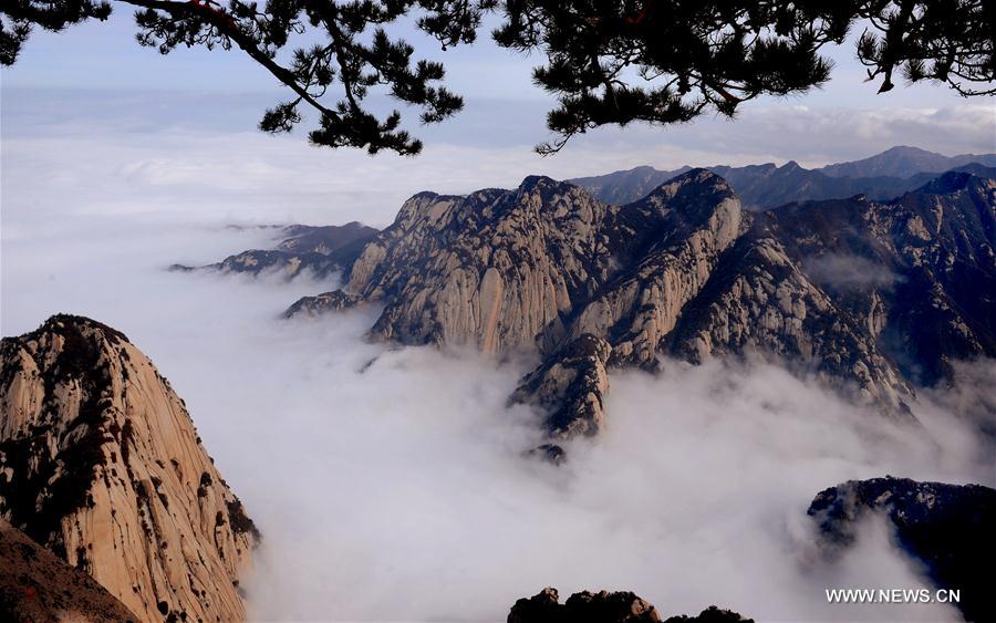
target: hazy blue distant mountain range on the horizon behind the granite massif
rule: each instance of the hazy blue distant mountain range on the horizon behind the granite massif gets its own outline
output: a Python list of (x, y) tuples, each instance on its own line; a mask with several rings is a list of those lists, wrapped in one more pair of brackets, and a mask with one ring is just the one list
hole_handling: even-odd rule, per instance
[[(796, 162), (782, 166), (771, 163), (730, 167), (706, 167), (726, 179), (749, 210), (775, 208), (790, 201), (844, 199), (865, 195), (870, 199), (891, 199), (914, 190), (947, 170), (964, 170), (981, 176), (996, 173), (996, 154), (943, 156), (916, 147), (893, 147), (881, 154), (807, 169)], [(664, 181), (691, 167), (657, 170), (641, 166), (594, 177), (570, 179), (609, 204), (630, 204), (645, 197)]]

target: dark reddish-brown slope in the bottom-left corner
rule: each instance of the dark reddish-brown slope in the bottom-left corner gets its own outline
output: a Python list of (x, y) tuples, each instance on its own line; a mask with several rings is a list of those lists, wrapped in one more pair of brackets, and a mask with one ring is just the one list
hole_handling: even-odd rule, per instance
[(0, 621), (138, 623), (85, 571), (0, 519)]

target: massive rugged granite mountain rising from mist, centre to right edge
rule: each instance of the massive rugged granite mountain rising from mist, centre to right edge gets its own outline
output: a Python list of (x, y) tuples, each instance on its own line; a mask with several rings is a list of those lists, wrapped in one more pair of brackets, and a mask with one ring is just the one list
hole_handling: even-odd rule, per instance
[(383, 305), (371, 334), (542, 363), (511, 397), (554, 438), (605, 422), (611, 370), (660, 356), (787, 364), (909, 418), (912, 387), (996, 356), (996, 183), (948, 173), (890, 201), (746, 212), (686, 172), (614, 206), (543, 177), (466, 197), (423, 193), (374, 236), (341, 291), (288, 316)]

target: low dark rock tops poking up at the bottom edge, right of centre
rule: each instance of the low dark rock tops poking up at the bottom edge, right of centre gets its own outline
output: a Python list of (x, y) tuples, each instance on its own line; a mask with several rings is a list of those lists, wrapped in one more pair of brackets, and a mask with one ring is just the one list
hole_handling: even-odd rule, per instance
[[(643, 623), (661, 621), (657, 610), (631, 592), (574, 593), (560, 603), (557, 589), (543, 589), (520, 599), (508, 613), (508, 623)], [(673, 616), (665, 623), (754, 623), (735, 612), (710, 606), (698, 616)]]

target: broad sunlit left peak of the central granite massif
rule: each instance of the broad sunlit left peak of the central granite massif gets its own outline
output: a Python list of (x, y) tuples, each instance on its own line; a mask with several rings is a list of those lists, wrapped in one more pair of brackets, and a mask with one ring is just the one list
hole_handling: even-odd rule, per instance
[(517, 190), (434, 199), (421, 219), (367, 245), (345, 290), (386, 303), (373, 329), (383, 339), (531, 346), (609, 274), (611, 253), (598, 237), (608, 209), (539, 177)]

